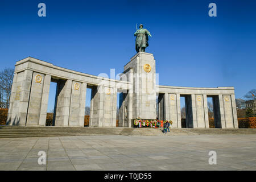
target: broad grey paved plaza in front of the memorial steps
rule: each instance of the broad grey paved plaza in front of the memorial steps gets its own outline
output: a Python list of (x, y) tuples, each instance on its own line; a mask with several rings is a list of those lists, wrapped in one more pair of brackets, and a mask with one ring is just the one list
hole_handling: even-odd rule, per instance
[[(216, 165), (208, 163), (212, 150)], [(256, 135), (6, 138), (0, 170), (256, 170)]]

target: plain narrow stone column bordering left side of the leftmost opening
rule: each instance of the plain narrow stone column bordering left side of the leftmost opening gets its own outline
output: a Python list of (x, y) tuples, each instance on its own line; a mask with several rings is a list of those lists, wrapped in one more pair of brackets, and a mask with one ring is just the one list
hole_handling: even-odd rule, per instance
[(39, 116), (39, 126), (46, 126), (48, 99), (49, 99), (49, 88), (51, 84), (51, 75), (44, 76), (42, 102)]

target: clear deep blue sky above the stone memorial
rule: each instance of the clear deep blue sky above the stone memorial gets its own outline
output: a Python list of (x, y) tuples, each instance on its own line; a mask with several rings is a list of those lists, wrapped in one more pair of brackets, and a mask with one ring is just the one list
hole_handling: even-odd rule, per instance
[[(46, 3), (47, 16), (38, 16)], [(217, 5), (217, 17), (208, 5)], [(28, 56), (92, 75), (123, 71), (135, 24), (151, 32), (160, 85), (256, 88), (256, 1), (0, 1), (0, 69)]]

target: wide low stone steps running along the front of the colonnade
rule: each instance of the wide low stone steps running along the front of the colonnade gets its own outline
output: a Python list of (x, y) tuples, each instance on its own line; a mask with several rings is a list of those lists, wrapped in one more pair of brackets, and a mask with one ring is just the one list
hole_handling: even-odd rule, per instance
[[(170, 133), (167, 133), (167, 136), (201, 134), (256, 134), (256, 129), (170, 129)], [(79, 135), (162, 136), (165, 134), (163, 134), (162, 129), (155, 128), (0, 126), (0, 138), (57, 137)]]

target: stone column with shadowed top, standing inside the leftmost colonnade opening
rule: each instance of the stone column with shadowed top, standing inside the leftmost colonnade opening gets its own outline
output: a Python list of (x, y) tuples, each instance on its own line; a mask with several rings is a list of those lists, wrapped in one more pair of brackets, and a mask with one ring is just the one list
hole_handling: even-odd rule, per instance
[(55, 126), (68, 126), (69, 109), (71, 102), (72, 80), (60, 80), (57, 82), (57, 106)]

